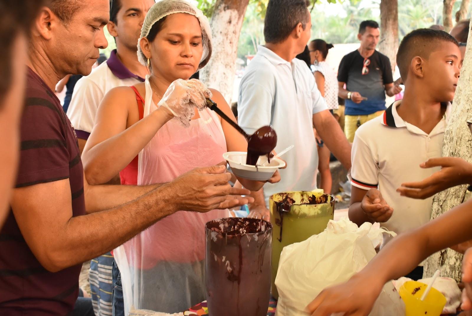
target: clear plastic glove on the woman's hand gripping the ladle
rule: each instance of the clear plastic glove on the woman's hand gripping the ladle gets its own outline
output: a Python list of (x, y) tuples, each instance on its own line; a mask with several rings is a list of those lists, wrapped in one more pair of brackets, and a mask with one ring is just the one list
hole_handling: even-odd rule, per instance
[(202, 111), (206, 107), (205, 98), (211, 96), (201, 81), (177, 79), (169, 85), (158, 105), (168, 109), (184, 127), (189, 127), (195, 115), (194, 108)]

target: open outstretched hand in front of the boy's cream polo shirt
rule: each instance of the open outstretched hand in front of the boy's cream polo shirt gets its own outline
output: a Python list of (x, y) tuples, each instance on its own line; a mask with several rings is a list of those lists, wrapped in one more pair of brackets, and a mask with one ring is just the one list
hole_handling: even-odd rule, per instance
[(402, 186), (396, 189), (401, 196), (424, 199), (447, 188), (472, 184), (472, 164), (461, 158), (431, 158), (422, 162), (420, 167), (441, 167), (441, 170), (422, 181), (402, 183)]

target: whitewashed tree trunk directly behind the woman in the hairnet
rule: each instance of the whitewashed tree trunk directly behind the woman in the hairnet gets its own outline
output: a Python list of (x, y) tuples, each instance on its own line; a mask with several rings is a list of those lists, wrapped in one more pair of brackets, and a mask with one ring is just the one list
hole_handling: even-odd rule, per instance
[(211, 17), (213, 53), (200, 71), (205, 85), (219, 90), (231, 102), (236, 69), (237, 44), (249, 0), (217, 0)]

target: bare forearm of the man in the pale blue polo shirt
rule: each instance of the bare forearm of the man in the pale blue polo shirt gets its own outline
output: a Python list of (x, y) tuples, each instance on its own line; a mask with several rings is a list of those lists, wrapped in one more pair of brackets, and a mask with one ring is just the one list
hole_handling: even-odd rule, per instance
[(347, 141), (337, 121), (329, 114), (324, 115), (322, 120), (316, 120), (317, 122), (320, 122), (321, 126), (315, 124), (315, 128), (323, 142), (346, 170), (351, 169), (351, 144)]

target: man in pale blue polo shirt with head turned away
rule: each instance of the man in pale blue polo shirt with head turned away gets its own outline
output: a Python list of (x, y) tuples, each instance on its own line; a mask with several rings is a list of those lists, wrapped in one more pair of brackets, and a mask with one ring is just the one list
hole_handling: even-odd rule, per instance
[(282, 180), (266, 184), (254, 196), (259, 204), (250, 205), (252, 217), (268, 219), (267, 203), (274, 193), (316, 188), (318, 152), (313, 125), (346, 169), (351, 165), (351, 146), (328, 111), (312, 72), (304, 61), (295, 58), (311, 35), (308, 5), (305, 0), (269, 1), (264, 23), (266, 44), (258, 47), (241, 80), (239, 125), (248, 133), (272, 125), (278, 136), (276, 152), (295, 145), (283, 156), (287, 169), (280, 170)]

